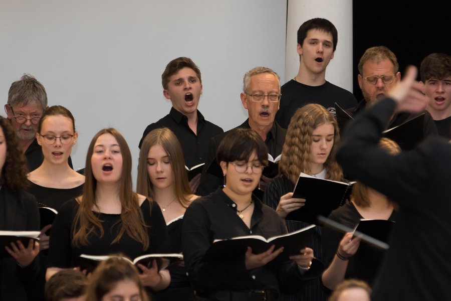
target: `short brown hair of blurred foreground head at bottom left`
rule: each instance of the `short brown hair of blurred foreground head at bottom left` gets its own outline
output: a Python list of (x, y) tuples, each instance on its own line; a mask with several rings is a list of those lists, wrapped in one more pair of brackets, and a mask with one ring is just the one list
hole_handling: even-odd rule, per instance
[(88, 279), (81, 271), (62, 269), (46, 282), (46, 301), (60, 301), (65, 298), (78, 298), (85, 293)]

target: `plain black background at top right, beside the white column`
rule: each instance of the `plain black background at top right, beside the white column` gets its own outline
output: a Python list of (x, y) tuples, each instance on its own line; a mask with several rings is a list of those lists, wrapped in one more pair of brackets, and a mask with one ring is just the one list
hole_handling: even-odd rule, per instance
[(383, 45), (393, 51), (401, 76), (407, 65), (419, 68), (430, 53), (451, 55), (451, 0), (354, 0), (352, 6), (353, 85), (358, 101), (363, 96), (357, 65), (369, 47)]

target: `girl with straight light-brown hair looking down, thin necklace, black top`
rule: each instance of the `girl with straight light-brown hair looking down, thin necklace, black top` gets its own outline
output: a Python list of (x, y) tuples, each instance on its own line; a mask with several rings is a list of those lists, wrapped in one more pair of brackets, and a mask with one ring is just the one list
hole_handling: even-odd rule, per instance
[[(166, 128), (150, 131), (141, 144), (136, 191), (149, 196), (163, 213), (169, 234), (169, 252), (181, 252), (181, 224), (186, 208), (198, 198), (192, 193), (186, 177), (181, 145)], [(182, 260), (169, 267), (169, 287), (157, 293), (158, 300), (192, 300)]]

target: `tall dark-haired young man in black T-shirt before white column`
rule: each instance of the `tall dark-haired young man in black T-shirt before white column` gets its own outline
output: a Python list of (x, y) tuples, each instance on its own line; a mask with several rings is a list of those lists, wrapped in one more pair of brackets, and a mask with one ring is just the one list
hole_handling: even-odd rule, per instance
[(307, 103), (318, 103), (335, 115), (335, 102), (347, 109), (357, 104), (354, 95), (326, 81), (326, 68), (334, 58), (338, 33), (326, 19), (304, 22), (298, 30), (297, 52), (299, 72), (282, 86), (280, 110), (276, 121), (284, 128), (290, 124), (296, 110)]

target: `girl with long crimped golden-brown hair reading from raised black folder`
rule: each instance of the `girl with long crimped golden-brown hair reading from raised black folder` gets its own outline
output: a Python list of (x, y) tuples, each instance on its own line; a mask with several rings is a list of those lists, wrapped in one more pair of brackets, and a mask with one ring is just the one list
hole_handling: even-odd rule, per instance
[[(300, 173), (317, 178), (341, 181), (343, 173), (335, 162), (335, 148), (340, 139), (338, 124), (334, 116), (319, 104), (307, 104), (296, 110), (287, 129), (280, 175), (274, 178), (265, 190), (263, 202), (274, 208), (285, 219), (288, 213), (302, 208), (305, 199), (293, 198), (293, 190)], [(302, 209), (301, 209), (302, 210)], [(306, 227), (305, 222), (285, 220), (288, 232)], [(321, 227), (315, 228), (310, 247), (315, 250), (315, 258), (322, 258)], [(320, 279), (306, 285), (304, 291), (296, 295), (282, 296), (282, 299), (323, 299)]]

